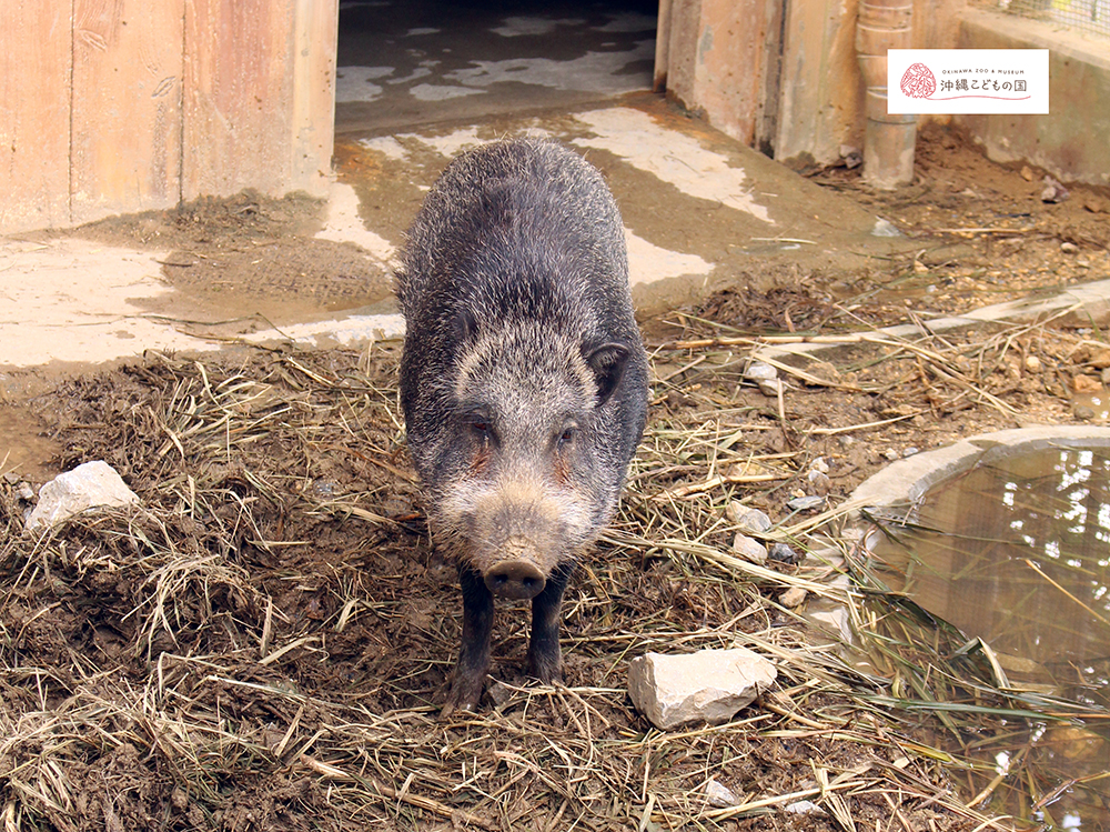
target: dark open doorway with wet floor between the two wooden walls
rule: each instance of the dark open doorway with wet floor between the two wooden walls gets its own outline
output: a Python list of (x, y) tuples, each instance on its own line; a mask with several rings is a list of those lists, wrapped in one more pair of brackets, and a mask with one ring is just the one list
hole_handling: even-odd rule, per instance
[(343, 0), (336, 133), (575, 107), (652, 87), (657, 4)]

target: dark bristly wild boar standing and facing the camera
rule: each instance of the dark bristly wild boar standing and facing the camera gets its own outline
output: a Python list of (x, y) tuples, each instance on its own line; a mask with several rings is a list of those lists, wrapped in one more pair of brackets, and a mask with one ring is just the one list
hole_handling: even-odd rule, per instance
[[(478, 148), (427, 194), (396, 279), (408, 447), (433, 534), (460, 562), (464, 641), (488, 636), (476, 575), (512, 560), (502, 578), (532, 581), (534, 565), (537, 587), (555, 578), (532, 655), (551, 679), (562, 588), (612, 517), (647, 411), (616, 203), (557, 142)], [(477, 704), (487, 662), (487, 644), (464, 643), (454, 704)]]

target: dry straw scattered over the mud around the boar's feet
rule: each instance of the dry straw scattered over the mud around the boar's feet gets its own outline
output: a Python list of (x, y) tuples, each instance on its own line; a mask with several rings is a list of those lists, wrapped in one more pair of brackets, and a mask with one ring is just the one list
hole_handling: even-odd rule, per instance
[[(775, 359), (791, 387), (764, 407), (743, 380), (756, 342), (694, 327), (659, 344), (628, 494), (568, 594), (566, 685), (527, 682), (526, 617), (506, 612), (492, 701), (448, 721), (437, 706), (458, 602), (404, 458), (395, 344), (150, 355), (68, 382), (40, 401), (64, 414), (60, 461), (107, 459), (143, 508), (33, 540), (18, 490), (0, 487), (3, 832), (1008, 829), (952, 789), (942, 764), (967, 763), (914, 731), (909, 704), (979, 724), (939, 709), (937, 676), (967, 669), (936, 664), (920, 635), (889, 635), (902, 625), (879, 628), (849, 589), (838, 541), (851, 507), (785, 503), (807, 488), (818, 441), (915, 413), (1008, 417), (993, 369), (1035, 338), (875, 335), (836, 365)], [(899, 412), (791, 423), (791, 397), (809, 389), (906, 394)], [(764, 542), (808, 557), (734, 552), (737, 499), (777, 521)], [(865, 671), (815, 635), (779, 601), (791, 588), (885, 633), (887, 663)], [(635, 713), (630, 656), (734, 644), (779, 671), (734, 722), (662, 733)], [(970, 664), (983, 701), (1012, 708), (1018, 694)], [(710, 781), (733, 805), (709, 801)]]

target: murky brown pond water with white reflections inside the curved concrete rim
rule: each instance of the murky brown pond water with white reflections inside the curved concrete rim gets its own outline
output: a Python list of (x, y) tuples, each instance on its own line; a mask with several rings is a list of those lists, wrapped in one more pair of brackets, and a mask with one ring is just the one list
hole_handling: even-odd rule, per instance
[[(927, 493), (909, 523), (882, 530), (872, 551), (887, 583), (989, 643), (1015, 688), (1110, 711), (1107, 449), (980, 464)], [(1110, 720), (1046, 722), (1017, 740), (1007, 733), (999, 744), (1028, 766), (1023, 816), (1050, 812), (1043, 820), (1059, 828), (1110, 824)], [(981, 752), (990, 759), (1000, 749)]]

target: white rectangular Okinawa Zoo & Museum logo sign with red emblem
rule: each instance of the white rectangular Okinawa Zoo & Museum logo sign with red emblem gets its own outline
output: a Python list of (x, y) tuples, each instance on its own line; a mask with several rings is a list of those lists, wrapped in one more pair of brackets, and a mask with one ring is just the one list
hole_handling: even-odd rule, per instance
[(1047, 49), (890, 49), (888, 113), (1048, 113)]

